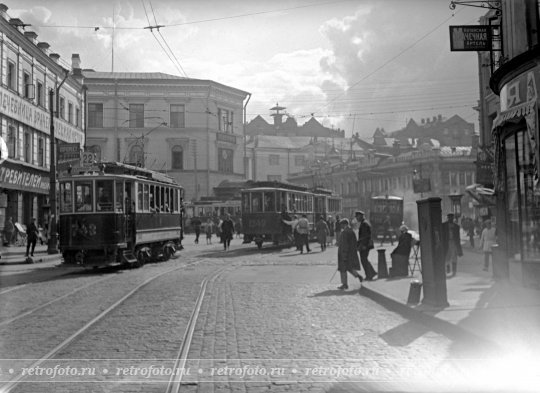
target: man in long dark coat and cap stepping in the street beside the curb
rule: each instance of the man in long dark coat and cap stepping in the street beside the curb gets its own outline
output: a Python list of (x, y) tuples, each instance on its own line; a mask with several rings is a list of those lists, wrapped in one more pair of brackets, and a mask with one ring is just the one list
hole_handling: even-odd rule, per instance
[(341, 286), (338, 289), (349, 289), (347, 283), (347, 272), (360, 280), (362, 285), (363, 278), (358, 273), (360, 270), (360, 261), (356, 251), (356, 235), (349, 225), (349, 220), (344, 218), (340, 222), (342, 230), (338, 239), (338, 270), (341, 275)]

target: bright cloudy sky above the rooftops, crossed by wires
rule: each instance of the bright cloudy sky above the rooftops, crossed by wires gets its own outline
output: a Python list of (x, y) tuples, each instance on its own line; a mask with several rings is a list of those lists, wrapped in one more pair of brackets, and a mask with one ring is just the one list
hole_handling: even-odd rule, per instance
[(4, 4), (65, 67), (78, 53), (84, 69), (210, 79), (251, 94), (248, 121), (271, 122), (279, 103), (299, 125), (314, 116), (346, 136), (439, 114), (459, 115), (478, 132), (477, 54), (451, 52), (449, 26), (476, 25), (486, 9), (451, 10), (449, 0)]

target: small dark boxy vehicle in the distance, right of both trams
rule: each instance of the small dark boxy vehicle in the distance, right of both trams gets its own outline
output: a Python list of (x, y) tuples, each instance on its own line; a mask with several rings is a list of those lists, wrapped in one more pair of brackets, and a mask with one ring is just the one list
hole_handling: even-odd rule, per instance
[(386, 217), (390, 217), (390, 231), (397, 236), (403, 223), (403, 198), (390, 195), (371, 198), (369, 222), (375, 238), (384, 234)]

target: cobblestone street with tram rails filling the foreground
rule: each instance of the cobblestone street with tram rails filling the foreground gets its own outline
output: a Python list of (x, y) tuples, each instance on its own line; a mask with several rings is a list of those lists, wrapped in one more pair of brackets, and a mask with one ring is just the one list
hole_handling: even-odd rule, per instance
[(337, 290), (336, 247), (190, 240), (168, 262), (0, 288), (0, 391), (462, 391), (493, 354), (352, 277)]

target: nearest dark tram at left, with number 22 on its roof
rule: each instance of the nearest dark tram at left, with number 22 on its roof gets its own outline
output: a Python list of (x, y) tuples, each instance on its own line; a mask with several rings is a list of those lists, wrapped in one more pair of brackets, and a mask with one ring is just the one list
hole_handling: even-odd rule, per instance
[(103, 162), (63, 175), (59, 196), (65, 263), (140, 267), (182, 248), (184, 190), (165, 174)]

